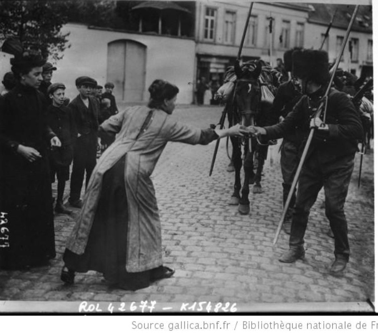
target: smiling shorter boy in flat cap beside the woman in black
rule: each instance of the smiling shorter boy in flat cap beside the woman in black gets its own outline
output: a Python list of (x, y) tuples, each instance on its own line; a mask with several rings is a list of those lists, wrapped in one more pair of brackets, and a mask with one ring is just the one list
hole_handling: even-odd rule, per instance
[(51, 182), (55, 182), (55, 175), (58, 180), (58, 194), (55, 211), (63, 214), (70, 214), (63, 205), (63, 194), (66, 181), (70, 179), (70, 165), (73, 159), (73, 146), (77, 137), (77, 130), (72, 111), (64, 105), (63, 83), (53, 83), (47, 88), (52, 104), (47, 108), (47, 123), (58, 136), (61, 147), (50, 152)]

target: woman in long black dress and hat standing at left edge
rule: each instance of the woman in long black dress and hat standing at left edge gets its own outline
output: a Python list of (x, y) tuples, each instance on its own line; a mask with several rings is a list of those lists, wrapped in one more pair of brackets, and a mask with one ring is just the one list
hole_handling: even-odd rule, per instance
[(45, 97), (38, 91), (44, 63), (37, 53), (12, 58), (17, 84), (0, 102), (1, 269), (55, 258), (47, 150), (60, 141), (45, 123)]

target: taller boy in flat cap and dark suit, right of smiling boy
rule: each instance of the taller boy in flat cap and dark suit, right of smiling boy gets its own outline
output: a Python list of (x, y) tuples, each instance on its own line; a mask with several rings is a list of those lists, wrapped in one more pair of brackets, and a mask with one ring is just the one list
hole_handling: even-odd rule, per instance
[(99, 103), (92, 96), (96, 80), (88, 76), (80, 76), (75, 81), (79, 94), (68, 104), (72, 109), (77, 128), (77, 138), (74, 145), (74, 156), (71, 174), (71, 189), (69, 203), (81, 208), (80, 193), (86, 173), (85, 186), (96, 165), (97, 130)]

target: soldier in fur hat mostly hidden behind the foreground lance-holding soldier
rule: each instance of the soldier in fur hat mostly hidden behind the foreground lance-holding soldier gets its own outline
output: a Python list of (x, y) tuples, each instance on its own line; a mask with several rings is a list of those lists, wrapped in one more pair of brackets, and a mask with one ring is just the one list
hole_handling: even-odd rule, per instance
[[(294, 49), (286, 51), (284, 54), (285, 71), (292, 71), (292, 53)], [(275, 115), (276, 123), (283, 121), (285, 117), (293, 110), (294, 105), (301, 98), (302, 93), (298, 87), (297, 80), (292, 78), (282, 83), (275, 96), (272, 105), (272, 113)], [(303, 133), (298, 129), (295, 132), (285, 133), (281, 146), (281, 172), (283, 187), (283, 205), (285, 206), (291, 185), (294, 180), (295, 172), (300, 159), (299, 149), (303, 141)], [(295, 190), (289, 203), (289, 209), (285, 216), (283, 229), (285, 233), (290, 234), (291, 218), (295, 203)]]

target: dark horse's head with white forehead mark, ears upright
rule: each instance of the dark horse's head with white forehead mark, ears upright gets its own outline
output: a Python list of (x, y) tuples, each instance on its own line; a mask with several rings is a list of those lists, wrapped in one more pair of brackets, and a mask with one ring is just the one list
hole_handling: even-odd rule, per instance
[(234, 70), (236, 74), (235, 102), (242, 118), (242, 125), (254, 125), (261, 100), (259, 76), (262, 64), (257, 62), (255, 68), (242, 70), (236, 62)]

